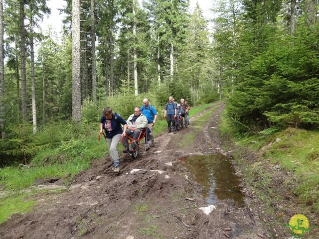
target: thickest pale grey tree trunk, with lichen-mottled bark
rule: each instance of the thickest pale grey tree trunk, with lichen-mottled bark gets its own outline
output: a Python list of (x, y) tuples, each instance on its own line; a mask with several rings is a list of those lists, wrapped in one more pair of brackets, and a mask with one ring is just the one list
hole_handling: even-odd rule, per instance
[(80, 0), (72, 0), (72, 118), (81, 121)]

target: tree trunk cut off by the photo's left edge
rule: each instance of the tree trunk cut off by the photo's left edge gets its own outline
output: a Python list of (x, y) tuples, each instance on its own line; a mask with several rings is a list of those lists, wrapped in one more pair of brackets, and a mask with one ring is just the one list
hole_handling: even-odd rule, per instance
[(4, 138), (4, 49), (3, 2), (0, 0), (0, 138)]

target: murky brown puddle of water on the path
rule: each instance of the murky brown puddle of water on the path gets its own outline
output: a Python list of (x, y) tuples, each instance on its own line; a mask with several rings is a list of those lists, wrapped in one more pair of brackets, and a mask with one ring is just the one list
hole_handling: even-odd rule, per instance
[(245, 206), (244, 195), (240, 192), (241, 178), (235, 174), (231, 158), (222, 154), (191, 155), (181, 162), (192, 179), (203, 187), (202, 195), (208, 204), (224, 202)]

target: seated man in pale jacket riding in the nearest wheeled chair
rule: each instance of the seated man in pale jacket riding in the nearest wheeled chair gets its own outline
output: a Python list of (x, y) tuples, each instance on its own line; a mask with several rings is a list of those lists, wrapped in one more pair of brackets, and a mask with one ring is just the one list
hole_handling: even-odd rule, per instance
[[(135, 107), (134, 114), (129, 116), (126, 120), (128, 128), (126, 130), (126, 135), (136, 140), (139, 138), (141, 130), (148, 126), (148, 119), (141, 113), (140, 107)], [(136, 149), (136, 143), (132, 143), (131, 149), (129, 149), (128, 137), (123, 137), (123, 153), (134, 153)]]

